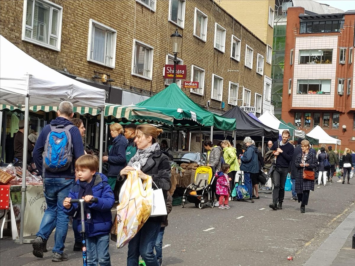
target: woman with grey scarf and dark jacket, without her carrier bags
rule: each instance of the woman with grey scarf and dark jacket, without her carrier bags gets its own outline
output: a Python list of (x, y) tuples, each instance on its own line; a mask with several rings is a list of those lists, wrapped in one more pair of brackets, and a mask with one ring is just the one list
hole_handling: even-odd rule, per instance
[[(167, 192), (171, 187), (171, 172), (169, 159), (160, 151), (160, 146), (157, 143), (158, 135), (162, 132), (162, 129), (148, 124), (137, 126), (135, 143), (138, 150), (128, 165), (121, 170), (121, 176), (124, 177), (129, 171), (135, 170), (132, 164), (139, 162), (141, 169), (138, 170), (138, 177), (145, 180), (148, 175), (152, 176), (157, 187), (163, 190), (166, 204)], [(152, 187), (157, 189), (155, 185)], [(128, 243), (127, 266), (137, 266), (140, 255), (147, 266), (158, 265), (153, 249), (163, 221), (165, 221), (165, 215), (149, 218), (135, 237), (130, 240)]]

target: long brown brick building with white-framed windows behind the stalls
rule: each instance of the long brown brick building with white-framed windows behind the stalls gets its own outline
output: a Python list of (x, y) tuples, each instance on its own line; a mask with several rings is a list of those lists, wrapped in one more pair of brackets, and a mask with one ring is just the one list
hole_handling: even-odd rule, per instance
[[(1, 0), (0, 32), (45, 65), (137, 103), (165, 88), (170, 35), (183, 35), (180, 64), (199, 89), (184, 92), (210, 111), (234, 105), (262, 113), (266, 44), (210, 0)], [(19, 62), (21, 63), (21, 62)], [(102, 82), (102, 74), (108, 81)], [(181, 82), (178, 82), (181, 85)], [(222, 102), (225, 109), (222, 110)]]

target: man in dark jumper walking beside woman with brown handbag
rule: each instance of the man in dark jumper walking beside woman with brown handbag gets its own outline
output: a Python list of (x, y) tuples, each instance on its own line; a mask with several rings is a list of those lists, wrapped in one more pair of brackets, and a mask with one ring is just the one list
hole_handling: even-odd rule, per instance
[(285, 182), (287, 173), (291, 171), (291, 162), (294, 153), (294, 147), (288, 142), (290, 132), (284, 130), (282, 132), (282, 141), (280, 144), (275, 142), (272, 150), (275, 151), (276, 167), (272, 174), (272, 182), (274, 189), (272, 190), (272, 203), (269, 205), (273, 210), (282, 210), (282, 202), (285, 196)]

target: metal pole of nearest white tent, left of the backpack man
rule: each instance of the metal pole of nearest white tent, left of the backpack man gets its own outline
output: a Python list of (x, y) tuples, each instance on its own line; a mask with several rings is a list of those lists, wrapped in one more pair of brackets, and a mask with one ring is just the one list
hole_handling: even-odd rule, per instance
[(27, 168), (27, 149), (28, 149), (28, 113), (29, 96), (25, 98), (24, 110), (24, 132), (23, 132), (23, 158), (22, 158), (22, 188), (21, 188), (21, 222), (20, 222), (20, 244), (23, 244), (23, 225), (24, 225), (24, 199), (26, 196), (26, 168)]

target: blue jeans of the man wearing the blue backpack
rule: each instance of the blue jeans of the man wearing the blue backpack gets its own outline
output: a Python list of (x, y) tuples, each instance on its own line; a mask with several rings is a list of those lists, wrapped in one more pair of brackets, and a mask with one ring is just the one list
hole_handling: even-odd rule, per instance
[(63, 201), (69, 195), (74, 182), (74, 179), (44, 178), (44, 196), (47, 210), (44, 212), (36, 235), (47, 240), (54, 228), (56, 228), (52, 251), (59, 254), (62, 254), (64, 250), (69, 223), (69, 216), (62, 210)]

